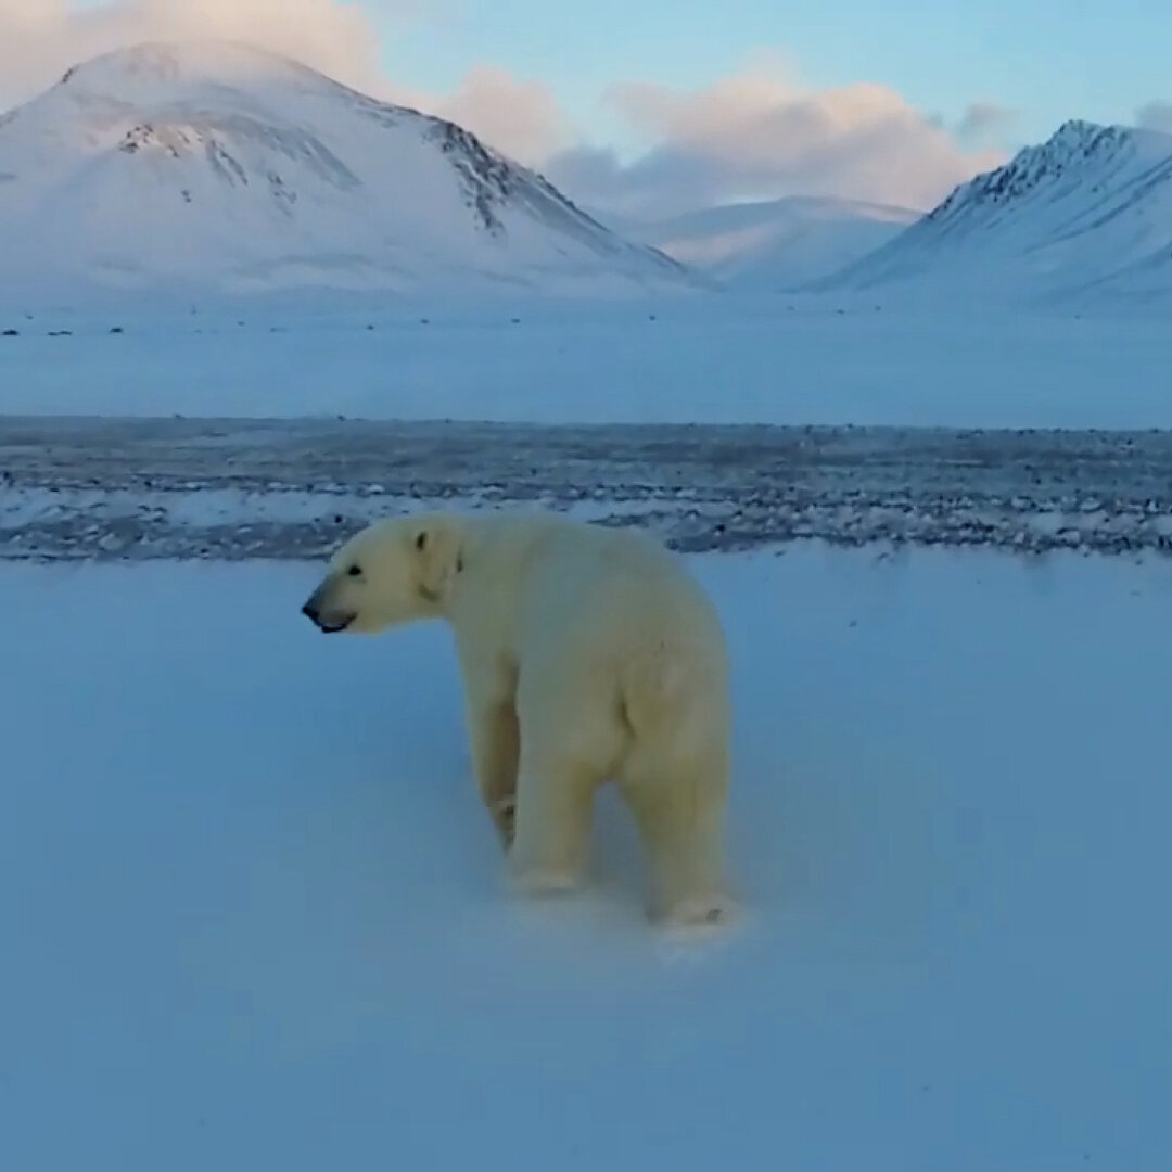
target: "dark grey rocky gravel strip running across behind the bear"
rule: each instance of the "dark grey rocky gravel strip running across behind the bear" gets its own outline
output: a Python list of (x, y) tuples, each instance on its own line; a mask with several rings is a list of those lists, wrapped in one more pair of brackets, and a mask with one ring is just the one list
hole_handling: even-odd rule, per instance
[(1172, 434), (0, 416), (0, 557), (305, 559), (457, 504), (798, 539), (1172, 553)]

